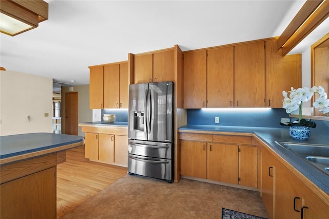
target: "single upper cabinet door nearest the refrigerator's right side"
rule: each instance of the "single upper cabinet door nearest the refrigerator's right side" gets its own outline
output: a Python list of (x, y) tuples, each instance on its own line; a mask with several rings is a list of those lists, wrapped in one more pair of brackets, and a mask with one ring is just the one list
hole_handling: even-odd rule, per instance
[(184, 54), (184, 108), (206, 107), (206, 51)]

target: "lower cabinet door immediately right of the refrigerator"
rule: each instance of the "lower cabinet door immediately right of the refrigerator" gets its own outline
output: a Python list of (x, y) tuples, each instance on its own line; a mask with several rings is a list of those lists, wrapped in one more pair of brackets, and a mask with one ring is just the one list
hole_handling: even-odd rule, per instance
[(180, 174), (197, 178), (207, 178), (207, 143), (181, 141)]

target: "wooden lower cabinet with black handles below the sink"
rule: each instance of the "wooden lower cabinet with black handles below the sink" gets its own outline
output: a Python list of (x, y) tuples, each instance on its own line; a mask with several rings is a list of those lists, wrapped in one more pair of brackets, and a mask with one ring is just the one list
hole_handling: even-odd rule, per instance
[(289, 170), (284, 161), (260, 147), (261, 196), (270, 218), (327, 218), (329, 206), (305, 184), (300, 173)]

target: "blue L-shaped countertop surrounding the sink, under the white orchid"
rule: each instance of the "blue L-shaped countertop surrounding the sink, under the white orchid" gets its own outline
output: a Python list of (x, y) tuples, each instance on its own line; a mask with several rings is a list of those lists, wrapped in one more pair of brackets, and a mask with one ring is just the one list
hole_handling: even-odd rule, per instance
[(270, 149), (276, 152), (280, 157), (290, 163), (295, 169), (313, 181), (320, 189), (329, 194), (329, 175), (312, 166), (308, 161), (299, 157), (290, 150), (285, 149), (278, 142), (295, 142), (306, 144), (326, 144), (329, 145), (329, 138), (311, 134), (307, 140), (295, 140), (289, 135), (289, 128), (270, 128), (270, 127), (245, 127), (245, 126), (220, 126), (220, 125), (184, 125), (179, 127), (178, 132), (232, 132), (232, 133), (251, 133), (261, 139)]

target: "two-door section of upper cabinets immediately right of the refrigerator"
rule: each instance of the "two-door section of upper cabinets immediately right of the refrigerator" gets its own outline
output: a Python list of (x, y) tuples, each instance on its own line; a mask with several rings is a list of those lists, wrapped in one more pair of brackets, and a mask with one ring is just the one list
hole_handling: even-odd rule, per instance
[(233, 47), (184, 54), (184, 108), (230, 107)]

